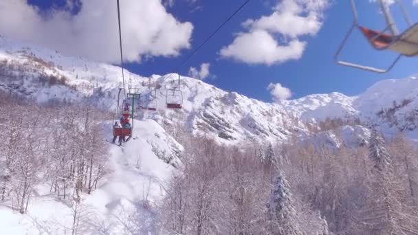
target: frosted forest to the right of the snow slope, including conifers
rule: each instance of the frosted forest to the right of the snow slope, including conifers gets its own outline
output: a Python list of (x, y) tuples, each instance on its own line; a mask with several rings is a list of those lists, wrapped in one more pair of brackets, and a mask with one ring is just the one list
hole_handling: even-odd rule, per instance
[(163, 234), (418, 234), (418, 151), (401, 134), (373, 128), (354, 148), (182, 144)]

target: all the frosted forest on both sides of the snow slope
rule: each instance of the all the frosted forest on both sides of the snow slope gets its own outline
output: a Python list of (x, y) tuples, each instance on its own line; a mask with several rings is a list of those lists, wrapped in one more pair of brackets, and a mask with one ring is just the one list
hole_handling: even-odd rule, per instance
[[(72, 208), (69, 234), (108, 234), (80, 202), (109, 172), (100, 121), (110, 117), (1, 94), (1, 203), (28, 213), (43, 183)], [(140, 205), (155, 212), (155, 234), (418, 234), (418, 151), (401, 134), (385, 138), (372, 127), (367, 143), (340, 148), (296, 136), (225, 146), (182, 122), (164, 128), (184, 151), (164, 199)], [(119, 217), (123, 234), (143, 234), (145, 218), (140, 210)]]

